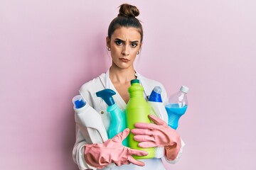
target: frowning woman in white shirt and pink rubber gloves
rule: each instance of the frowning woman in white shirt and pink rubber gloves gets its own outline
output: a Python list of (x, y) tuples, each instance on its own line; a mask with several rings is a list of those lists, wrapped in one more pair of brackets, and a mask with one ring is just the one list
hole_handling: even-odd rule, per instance
[[(146, 79), (134, 70), (134, 60), (142, 49), (143, 30), (136, 18), (139, 10), (136, 6), (122, 4), (119, 14), (110, 23), (107, 35), (107, 50), (112, 57), (112, 65), (106, 73), (82, 85), (80, 94), (85, 101), (102, 116), (106, 130), (109, 128), (110, 119), (107, 105), (95, 93), (102, 89), (112, 89), (117, 94), (114, 101), (121, 109), (125, 109), (129, 101), (128, 88), (132, 79), (139, 79), (144, 87), (144, 97), (149, 96), (155, 86), (163, 89), (162, 98), (167, 103), (167, 94), (164, 86), (157, 81)], [(73, 149), (73, 159), (80, 169), (164, 169), (161, 157), (174, 164), (183, 147), (181, 137), (176, 130), (169, 128), (164, 120), (149, 116), (153, 123), (137, 123), (134, 140), (139, 142), (139, 147), (164, 147), (163, 152), (153, 159), (134, 159), (132, 155), (144, 156), (145, 151), (130, 149), (122, 145), (130, 130), (126, 129), (111, 140), (103, 144), (87, 144), (86, 139), (77, 129), (77, 137)], [(114, 163), (117, 166), (110, 166)]]

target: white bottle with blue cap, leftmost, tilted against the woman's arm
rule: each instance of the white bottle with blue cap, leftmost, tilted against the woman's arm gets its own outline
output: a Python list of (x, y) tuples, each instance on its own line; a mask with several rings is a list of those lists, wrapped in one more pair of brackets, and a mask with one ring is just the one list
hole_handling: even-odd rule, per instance
[(108, 140), (107, 131), (103, 125), (102, 118), (82, 96), (77, 95), (73, 98), (75, 123), (82, 132), (88, 144), (102, 143)]

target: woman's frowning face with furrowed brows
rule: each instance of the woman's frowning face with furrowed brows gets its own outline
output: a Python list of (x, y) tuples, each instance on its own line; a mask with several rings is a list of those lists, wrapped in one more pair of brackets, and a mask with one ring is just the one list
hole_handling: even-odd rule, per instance
[(133, 68), (141, 45), (141, 35), (137, 28), (120, 27), (114, 30), (111, 39), (107, 38), (107, 47), (111, 49), (112, 66), (120, 69)]

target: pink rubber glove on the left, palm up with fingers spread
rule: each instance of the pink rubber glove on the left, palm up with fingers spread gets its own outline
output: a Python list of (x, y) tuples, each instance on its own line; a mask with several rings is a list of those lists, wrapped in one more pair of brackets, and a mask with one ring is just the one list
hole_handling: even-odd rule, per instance
[(102, 169), (110, 163), (117, 166), (130, 163), (144, 166), (144, 162), (137, 161), (132, 157), (132, 154), (146, 156), (148, 153), (124, 147), (122, 141), (127, 135), (129, 135), (128, 128), (102, 144), (85, 145), (85, 162), (97, 169)]

